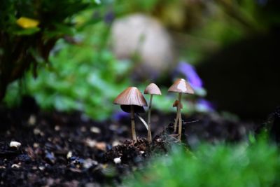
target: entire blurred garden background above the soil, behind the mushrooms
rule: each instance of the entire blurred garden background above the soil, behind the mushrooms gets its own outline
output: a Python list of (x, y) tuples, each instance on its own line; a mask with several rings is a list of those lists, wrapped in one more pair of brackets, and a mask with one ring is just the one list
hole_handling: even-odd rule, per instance
[[(186, 116), (218, 111), (263, 120), (280, 104), (280, 1), (5, 1), (0, 97), (18, 106), (118, 120), (113, 99), (157, 83), (154, 109), (174, 113), (167, 89), (186, 78)], [(23, 18), (23, 20), (20, 18)], [(146, 97), (148, 99), (148, 97)]]

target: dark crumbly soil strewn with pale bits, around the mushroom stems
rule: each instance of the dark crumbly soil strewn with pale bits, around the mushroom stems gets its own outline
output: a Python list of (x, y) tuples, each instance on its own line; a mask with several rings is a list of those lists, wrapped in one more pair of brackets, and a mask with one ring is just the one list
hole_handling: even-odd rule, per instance
[[(187, 135), (179, 142), (169, 123), (174, 116), (153, 112), (157, 135), (149, 144), (139, 121), (139, 139), (130, 140), (128, 118), (97, 123), (78, 112), (40, 111), (31, 98), (16, 109), (1, 106), (0, 186), (118, 185), (123, 176), (143, 168), (154, 155), (167, 154), (174, 144), (191, 149), (201, 141), (241, 141), (254, 127), (216, 113), (184, 116)], [(11, 141), (21, 145), (10, 147)]]

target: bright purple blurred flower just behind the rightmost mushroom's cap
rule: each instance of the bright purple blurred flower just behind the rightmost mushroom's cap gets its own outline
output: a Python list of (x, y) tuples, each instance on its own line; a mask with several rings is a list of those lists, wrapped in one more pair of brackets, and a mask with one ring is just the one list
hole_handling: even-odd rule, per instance
[(195, 67), (193, 67), (191, 64), (188, 64), (187, 62), (179, 62), (178, 66), (176, 67), (176, 73), (185, 76), (193, 88), (202, 88), (202, 79), (200, 76), (198, 76), (197, 71), (195, 71)]

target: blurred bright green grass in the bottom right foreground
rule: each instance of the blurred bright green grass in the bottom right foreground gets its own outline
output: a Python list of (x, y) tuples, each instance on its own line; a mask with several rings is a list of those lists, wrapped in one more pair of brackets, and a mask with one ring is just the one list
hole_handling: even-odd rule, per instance
[(174, 148), (130, 176), (124, 186), (279, 186), (280, 151), (265, 140), (253, 144), (204, 144), (193, 153)]

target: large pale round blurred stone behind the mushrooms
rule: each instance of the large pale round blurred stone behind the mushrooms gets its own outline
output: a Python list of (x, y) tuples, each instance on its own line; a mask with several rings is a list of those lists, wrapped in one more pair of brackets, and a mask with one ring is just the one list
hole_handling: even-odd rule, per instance
[(112, 41), (113, 52), (119, 59), (139, 55), (140, 64), (134, 71), (140, 77), (159, 76), (172, 71), (176, 65), (171, 36), (151, 16), (138, 13), (116, 20), (112, 26)]

